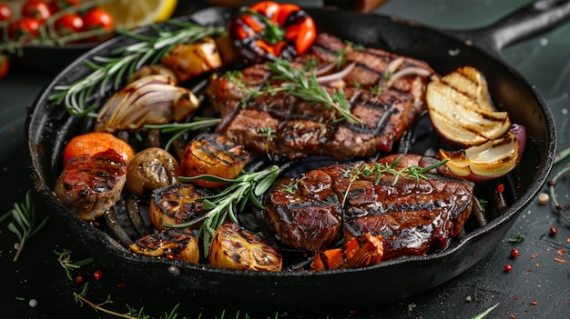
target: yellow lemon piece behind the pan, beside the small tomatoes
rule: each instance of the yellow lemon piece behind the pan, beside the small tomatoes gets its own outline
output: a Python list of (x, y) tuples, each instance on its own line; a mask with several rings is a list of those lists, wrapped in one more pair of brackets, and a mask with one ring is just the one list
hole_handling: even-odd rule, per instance
[(177, 0), (116, 0), (101, 4), (115, 19), (117, 28), (133, 29), (168, 19)]

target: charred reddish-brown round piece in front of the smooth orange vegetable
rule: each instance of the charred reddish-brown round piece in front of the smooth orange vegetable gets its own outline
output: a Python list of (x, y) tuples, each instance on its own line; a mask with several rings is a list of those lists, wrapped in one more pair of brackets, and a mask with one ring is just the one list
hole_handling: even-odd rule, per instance
[(56, 181), (61, 204), (85, 220), (100, 217), (120, 198), (127, 182), (127, 163), (110, 149), (70, 159)]

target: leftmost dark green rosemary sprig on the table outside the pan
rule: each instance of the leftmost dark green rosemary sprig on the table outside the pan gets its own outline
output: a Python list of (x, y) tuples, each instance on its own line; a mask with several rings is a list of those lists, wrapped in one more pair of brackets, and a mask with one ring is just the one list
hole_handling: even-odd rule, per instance
[(24, 203), (15, 203), (14, 208), (2, 216), (2, 221), (9, 215), (12, 216), (14, 221), (8, 224), (8, 229), (14, 233), (19, 240), (17, 252), (14, 256), (14, 261), (17, 261), (27, 241), (44, 228), (49, 220), (49, 216), (44, 217), (39, 224), (36, 224), (36, 209), (32, 203), (31, 191), (27, 191), (25, 194)]

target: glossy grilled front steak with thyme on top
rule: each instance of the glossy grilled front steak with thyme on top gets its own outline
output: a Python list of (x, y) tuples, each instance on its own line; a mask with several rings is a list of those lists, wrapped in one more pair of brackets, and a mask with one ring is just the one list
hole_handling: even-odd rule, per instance
[[(474, 184), (453, 176), (445, 165), (417, 180), (405, 174), (378, 177), (378, 171), (364, 169), (387, 167), (397, 158), (334, 164), (280, 182), (264, 200), (270, 228), (284, 244), (308, 251), (327, 249), (342, 234), (347, 241), (380, 234), (383, 260), (447, 248), (471, 214)], [(403, 155), (393, 168), (436, 162)]]

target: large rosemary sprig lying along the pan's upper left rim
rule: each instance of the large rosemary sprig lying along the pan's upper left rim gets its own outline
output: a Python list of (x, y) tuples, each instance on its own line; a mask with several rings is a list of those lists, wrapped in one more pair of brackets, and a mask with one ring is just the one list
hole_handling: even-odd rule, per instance
[[(166, 25), (178, 27), (176, 30)], [(203, 26), (189, 21), (169, 20), (165, 27), (154, 26), (157, 35), (139, 35), (127, 30), (117, 30), (117, 34), (137, 40), (136, 44), (121, 46), (111, 52), (111, 56), (94, 56), (85, 63), (92, 69), (87, 76), (70, 85), (58, 85), (48, 100), (52, 104), (63, 103), (67, 112), (74, 116), (91, 115), (97, 105), (88, 105), (89, 97), (96, 86), (100, 94), (105, 94), (107, 85), (112, 83), (117, 90), (121, 81), (134, 73), (141, 65), (154, 65), (172, 47), (181, 43), (193, 43), (205, 36), (216, 36), (224, 31), (221, 27)]]

